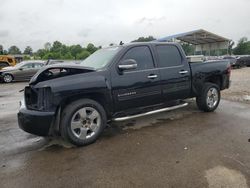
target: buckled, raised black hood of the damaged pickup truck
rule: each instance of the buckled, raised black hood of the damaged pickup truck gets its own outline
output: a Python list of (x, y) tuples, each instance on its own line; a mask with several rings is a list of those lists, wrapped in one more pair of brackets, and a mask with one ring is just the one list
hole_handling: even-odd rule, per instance
[(35, 85), (38, 82), (52, 80), (56, 78), (82, 74), (87, 72), (94, 72), (92, 67), (84, 67), (77, 64), (55, 64), (41, 68), (30, 80), (30, 85)]

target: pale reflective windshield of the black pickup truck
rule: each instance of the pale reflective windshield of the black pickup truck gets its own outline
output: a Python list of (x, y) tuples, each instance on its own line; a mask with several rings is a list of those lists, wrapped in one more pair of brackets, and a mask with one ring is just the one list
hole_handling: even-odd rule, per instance
[(100, 69), (105, 67), (112, 58), (120, 51), (121, 47), (109, 47), (97, 50), (87, 59), (81, 62), (81, 65)]

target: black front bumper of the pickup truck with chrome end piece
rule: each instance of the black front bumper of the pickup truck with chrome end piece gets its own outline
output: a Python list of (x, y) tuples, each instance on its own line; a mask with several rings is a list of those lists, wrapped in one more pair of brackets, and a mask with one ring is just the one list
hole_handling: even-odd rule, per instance
[(31, 134), (48, 136), (50, 127), (54, 122), (55, 112), (28, 110), (24, 100), (20, 103), (20, 109), (17, 114), (19, 127)]

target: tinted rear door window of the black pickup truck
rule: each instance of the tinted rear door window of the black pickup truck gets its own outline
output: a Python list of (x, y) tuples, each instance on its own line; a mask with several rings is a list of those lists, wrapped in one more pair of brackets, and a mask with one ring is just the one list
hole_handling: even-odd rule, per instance
[(181, 65), (181, 55), (176, 46), (160, 45), (156, 46), (159, 57), (159, 67), (173, 67)]

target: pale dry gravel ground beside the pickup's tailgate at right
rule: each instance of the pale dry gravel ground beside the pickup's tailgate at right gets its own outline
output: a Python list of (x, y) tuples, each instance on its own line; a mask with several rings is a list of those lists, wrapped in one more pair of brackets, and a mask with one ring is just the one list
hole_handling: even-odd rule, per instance
[(250, 67), (234, 69), (231, 86), (222, 92), (222, 98), (250, 104)]

